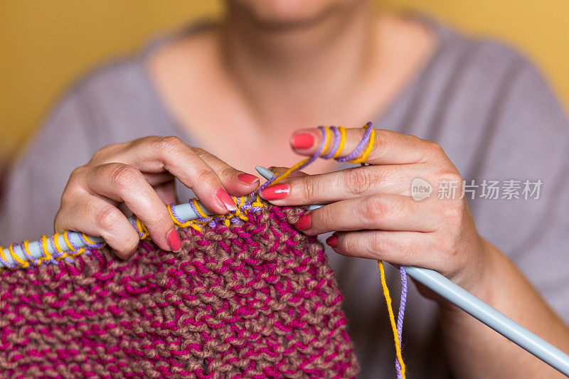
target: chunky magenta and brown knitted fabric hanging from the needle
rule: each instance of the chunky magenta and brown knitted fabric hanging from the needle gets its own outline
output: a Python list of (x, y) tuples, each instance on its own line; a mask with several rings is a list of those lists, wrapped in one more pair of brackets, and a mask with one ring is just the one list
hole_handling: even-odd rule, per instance
[(264, 203), (249, 220), (0, 272), (0, 377), (353, 377), (324, 248)]

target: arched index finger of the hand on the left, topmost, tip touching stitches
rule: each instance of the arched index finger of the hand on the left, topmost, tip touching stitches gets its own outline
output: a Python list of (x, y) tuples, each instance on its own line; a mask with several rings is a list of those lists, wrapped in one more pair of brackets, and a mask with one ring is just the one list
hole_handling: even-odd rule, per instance
[(225, 214), (237, 209), (216, 171), (178, 137), (144, 137), (122, 146), (118, 152), (110, 150), (112, 154), (101, 157), (106, 154), (105, 149), (98, 151), (92, 161), (119, 161), (146, 173), (169, 171), (184, 186), (191, 188), (211, 212)]

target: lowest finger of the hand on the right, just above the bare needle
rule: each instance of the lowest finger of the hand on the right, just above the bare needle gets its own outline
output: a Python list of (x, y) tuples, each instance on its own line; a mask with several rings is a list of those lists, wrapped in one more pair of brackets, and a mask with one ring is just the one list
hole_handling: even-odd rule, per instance
[(430, 233), (366, 230), (334, 233), (326, 244), (340, 255), (445, 270)]

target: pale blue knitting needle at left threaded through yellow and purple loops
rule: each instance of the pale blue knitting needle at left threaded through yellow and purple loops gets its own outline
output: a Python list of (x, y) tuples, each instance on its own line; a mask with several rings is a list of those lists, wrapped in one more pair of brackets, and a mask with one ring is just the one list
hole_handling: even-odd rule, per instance
[[(212, 214), (200, 202), (198, 202), (198, 206), (207, 215)], [(189, 203), (173, 205), (172, 210), (174, 210), (174, 213), (176, 215), (178, 215), (180, 220), (184, 220), (184, 221), (195, 220), (196, 218), (200, 217), (200, 215), (196, 214), (196, 212), (193, 210), (193, 208), (191, 207), (191, 205)], [(135, 220), (134, 216), (129, 218), (129, 220), (131, 221), (131, 223), (134, 222), (134, 220)], [(53, 243), (56, 243), (60, 247), (64, 247), (63, 251), (70, 250), (67, 248), (68, 245), (65, 242), (65, 235), (63, 235), (63, 233), (59, 234), (55, 240), (54, 240), (54, 237), (55, 237), (54, 235), (52, 235), (51, 237), (48, 237), (48, 242), (46, 243), (46, 248), (47, 248), (48, 252), (50, 253), (50, 255), (53, 255), (55, 252), (57, 252)], [(92, 242), (91, 245), (95, 245), (97, 243), (104, 242), (104, 240), (101, 237), (91, 237), (89, 235), (87, 235), (86, 236), (87, 238), (85, 239), (85, 237), (83, 235), (81, 235), (81, 233), (77, 233), (77, 232), (68, 232), (67, 237), (68, 237), (70, 244), (73, 245), (74, 247), (77, 247), (77, 248), (89, 247), (88, 242)], [(50, 241), (53, 241), (53, 243), (51, 243)], [(2, 248), (2, 249), (4, 250), (3, 251), (4, 257), (6, 257), (6, 261), (9, 263), (9, 265), (16, 264), (16, 261), (14, 260), (14, 257), (12, 257), (11, 254), (9, 253), (8, 248)], [(28, 258), (26, 258), (23, 243), (20, 245), (13, 245), (13, 250), (14, 250), (14, 254), (16, 254), (21, 260), (28, 261)], [(43, 252), (42, 252), (41, 241), (29, 242), (28, 243), (28, 251), (30, 252), (30, 255), (34, 258), (41, 258), (44, 256)], [(4, 265), (2, 265), (2, 263), (0, 262), (0, 268), (1, 267), (4, 267)]]

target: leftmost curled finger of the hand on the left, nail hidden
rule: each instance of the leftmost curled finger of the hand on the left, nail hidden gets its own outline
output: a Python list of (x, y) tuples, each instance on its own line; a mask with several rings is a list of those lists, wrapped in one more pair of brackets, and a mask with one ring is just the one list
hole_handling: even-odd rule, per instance
[(55, 231), (65, 230), (103, 237), (118, 257), (127, 258), (137, 249), (139, 235), (127, 217), (114, 205), (90, 193), (74, 193), (63, 201), (55, 216)]

